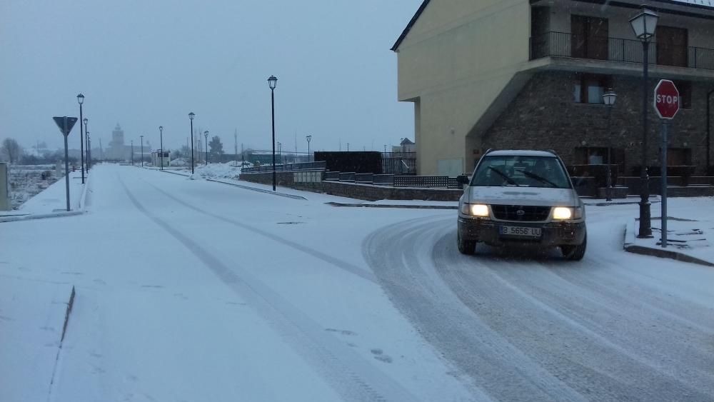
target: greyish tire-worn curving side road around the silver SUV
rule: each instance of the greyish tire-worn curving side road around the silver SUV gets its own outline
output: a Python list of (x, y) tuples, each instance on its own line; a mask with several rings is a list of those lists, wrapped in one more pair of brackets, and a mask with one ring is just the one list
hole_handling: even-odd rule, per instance
[(712, 401), (714, 270), (623, 253), (618, 215), (633, 208), (590, 208), (578, 263), (486, 246), (463, 256), (453, 216), (376, 231), (365, 255), (396, 306), (488, 396)]

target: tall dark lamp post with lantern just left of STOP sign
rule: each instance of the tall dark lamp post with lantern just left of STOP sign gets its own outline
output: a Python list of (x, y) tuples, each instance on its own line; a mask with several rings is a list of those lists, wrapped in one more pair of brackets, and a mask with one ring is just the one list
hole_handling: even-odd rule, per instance
[(647, 175), (647, 110), (648, 110), (648, 57), (652, 36), (655, 35), (657, 20), (660, 18), (654, 11), (643, 8), (640, 14), (630, 19), (630, 25), (637, 39), (642, 41), (642, 166), (640, 169), (640, 230), (638, 237), (652, 237), (650, 220), (650, 187)]

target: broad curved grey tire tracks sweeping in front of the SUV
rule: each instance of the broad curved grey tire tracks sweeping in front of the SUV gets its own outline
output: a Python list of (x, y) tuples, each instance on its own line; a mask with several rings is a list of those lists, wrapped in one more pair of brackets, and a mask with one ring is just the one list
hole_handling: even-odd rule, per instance
[[(629, 328), (630, 321), (662, 317), (651, 309), (630, 308), (640, 303), (638, 293), (613, 300), (600, 288), (583, 288), (551, 272), (589, 279), (593, 271), (627, 269), (624, 263), (603, 268), (598, 256), (590, 255), (581, 263), (470, 258), (456, 251), (455, 230), (451, 219), (406, 221), (373, 233), (363, 250), (396, 306), (489, 395), (507, 400), (714, 397), (714, 353), (705, 341), (713, 334), (706, 326), (672, 325), (658, 333), (646, 326)], [(612, 311), (618, 309), (623, 316), (616, 319)], [(638, 331), (645, 333), (628, 339)], [(520, 377), (514, 380), (514, 375)]]

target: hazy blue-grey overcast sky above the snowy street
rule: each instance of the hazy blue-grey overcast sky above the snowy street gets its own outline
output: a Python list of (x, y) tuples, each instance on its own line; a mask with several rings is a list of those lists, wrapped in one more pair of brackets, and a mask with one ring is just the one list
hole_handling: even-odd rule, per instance
[[(62, 144), (52, 116), (86, 96), (93, 146), (116, 123), (126, 144), (186, 144), (194, 129), (223, 149), (268, 149), (268, 76), (278, 77), (276, 137), (305, 151), (380, 151), (413, 139), (389, 49), (421, 0), (0, 1), (0, 139)], [(79, 127), (70, 134), (79, 148)]]

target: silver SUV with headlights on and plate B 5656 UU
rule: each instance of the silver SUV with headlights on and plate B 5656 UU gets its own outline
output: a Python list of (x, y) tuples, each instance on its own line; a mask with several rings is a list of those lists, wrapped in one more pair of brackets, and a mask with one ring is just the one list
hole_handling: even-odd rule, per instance
[(487, 151), (458, 205), (458, 251), (491, 246), (560, 247), (580, 260), (588, 236), (585, 206), (563, 161), (552, 151)]

